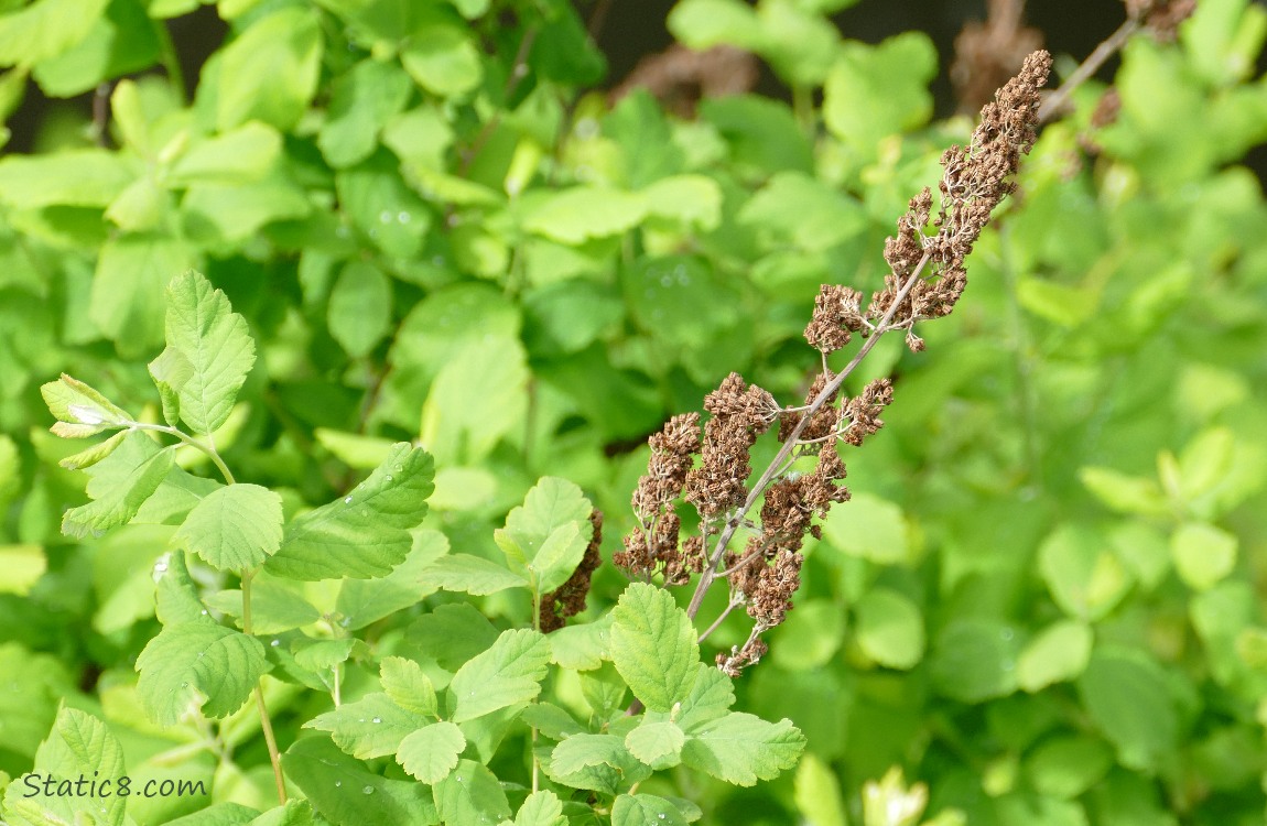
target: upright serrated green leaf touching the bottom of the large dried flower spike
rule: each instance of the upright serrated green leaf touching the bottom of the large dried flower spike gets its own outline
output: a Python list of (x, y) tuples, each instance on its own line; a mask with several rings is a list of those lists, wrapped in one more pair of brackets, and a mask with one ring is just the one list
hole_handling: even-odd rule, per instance
[(612, 609), (612, 661), (634, 696), (666, 712), (685, 699), (699, 663), (696, 628), (661, 588), (634, 583)]

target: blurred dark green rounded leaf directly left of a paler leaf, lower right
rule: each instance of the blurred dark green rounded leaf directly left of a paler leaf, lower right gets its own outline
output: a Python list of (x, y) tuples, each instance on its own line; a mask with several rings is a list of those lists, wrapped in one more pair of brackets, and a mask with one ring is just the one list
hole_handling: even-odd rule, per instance
[(933, 651), (934, 687), (964, 703), (1006, 697), (1016, 690), (1020, 640), (1010, 626), (990, 620), (950, 622)]

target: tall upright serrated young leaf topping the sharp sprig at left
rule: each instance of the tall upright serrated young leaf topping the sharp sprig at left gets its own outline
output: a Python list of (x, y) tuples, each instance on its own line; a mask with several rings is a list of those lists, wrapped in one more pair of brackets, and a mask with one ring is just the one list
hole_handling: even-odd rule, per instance
[(255, 364), (246, 319), (224, 293), (189, 271), (167, 286), (166, 336), (167, 350), (151, 364), (160, 391), (166, 385), (175, 393), (180, 418), (195, 433), (212, 433), (228, 419)]

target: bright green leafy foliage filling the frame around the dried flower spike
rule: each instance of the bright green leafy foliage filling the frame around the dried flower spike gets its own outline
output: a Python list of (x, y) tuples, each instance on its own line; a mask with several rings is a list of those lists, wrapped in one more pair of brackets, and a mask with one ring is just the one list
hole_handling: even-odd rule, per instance
[[(886, 427), (731, 679), (750, 602), (701, 642), (726, 583), (611, 565), (646, 438), (731, 371), (799, 404), (820, 284), (869, 300), (969, 125), (853, 0), (680, 0), (786, 94), (609, 100), (597, 5), (0, 1), (0, 818), (1261, 822), (1267, 11), (1043, 128), (927, 350), (845, 384)], [(209, 793), (23, 797), (124, 769)]]

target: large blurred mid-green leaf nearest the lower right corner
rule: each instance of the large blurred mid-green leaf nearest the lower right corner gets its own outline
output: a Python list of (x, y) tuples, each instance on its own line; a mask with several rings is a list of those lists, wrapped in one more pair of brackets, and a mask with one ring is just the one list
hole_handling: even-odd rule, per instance
[(1153, 772), (1173, 763), (1178, 709), (1156, 660), (1134, 650), (1097, 650), (1078, 679), (1078, 694), (1124, 766)]

